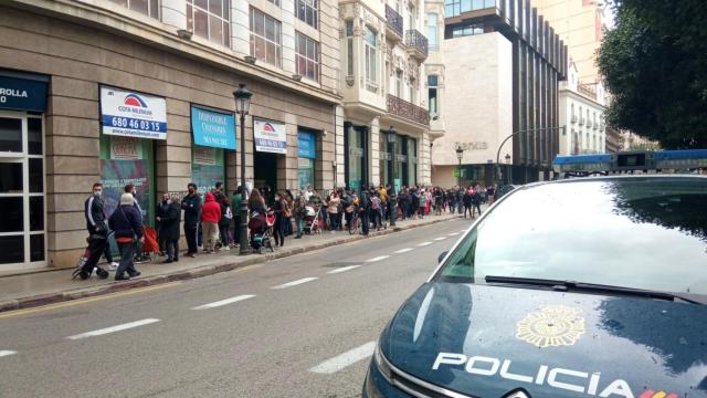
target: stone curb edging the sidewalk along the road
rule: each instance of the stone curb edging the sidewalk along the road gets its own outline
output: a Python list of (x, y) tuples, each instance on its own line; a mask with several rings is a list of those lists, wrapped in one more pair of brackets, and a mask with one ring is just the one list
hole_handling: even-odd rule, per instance
[(221, 272), (238, 270), (240, 268), (244, 268), (253, 264), (265, 263), (271, 260), (283, 259), (283, 258), (292, 256), (295, 254), (307, 253), (316, 250), (330, 248), (334, 245), (356, 242), (363, 239), (382, 237), (382, 235), (391, 234), (394, 232), (402, 232), (402, 231), (407, 231), (414, 228), (428, 227), (439, 222), (454, 220), (454, 219), (456, 219), (456, 217), (434, 219), (428, 222), (421, 222), (421, 223), (404, 226), (404, 227), (395, 227), (395, 228), (386, 229), (382, 231), (371, 231), (368, 234), (368, 237), (363, 237), (360, 234), (348, 235), (348, 237), (333, 240), (329, 242), (321, 242), (321, 243), (312, 244), (308, 247), (287, 249), (287, 250), (277, 251), (274, 253), (266, 253), (263, 255), (245, 259), (239, 262), (225, 262), (225, 263), (218, 263), (218, 264), (211, 264), (211, 265), (202, 265), (191, 270), (182, 270), (182, 271), (177, 271), (172, 273), (137, 277), (135, 280), (130, 280), (127, 282), (110, 282), (106, 285), (101, 285), (101, 286), (80, 287), (80, 289), (70, 290), (65, 292), (44, 293), (44, 294), (38, 294), (38, 295), (32, 295), (27, 297), (0, 301), (0, 313), (14, 311), (14, 310), (25, 310), (31, 307), (38, 307), (42, 305), (67, 302), (72, 300), (106, 295), (106, 294), (122, 292), (130, 289), (155, 286), (155, 285), (169, 283), (169, 282), (186, 281), (186, 280), (192, 280), (192, 279), (202, 277), (202, 276), (209, 276), (209, 275), (213, 275)]

